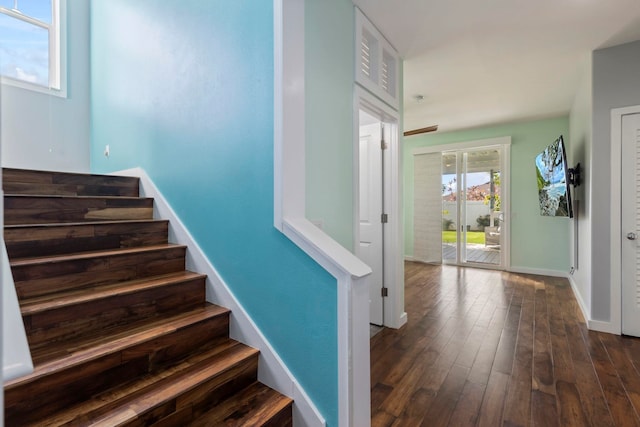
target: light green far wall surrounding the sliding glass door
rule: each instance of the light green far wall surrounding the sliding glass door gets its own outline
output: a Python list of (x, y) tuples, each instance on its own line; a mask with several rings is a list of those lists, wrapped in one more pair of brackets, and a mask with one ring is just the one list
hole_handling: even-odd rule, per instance
[(559, 135), (570, 141), (568, 117), (404, 138), (405, 254), (413, 254), (413, 149), (511, 136), (511, 266), (568, 271), (570, 221), (540, 216), (534, 169), (535, 156)]

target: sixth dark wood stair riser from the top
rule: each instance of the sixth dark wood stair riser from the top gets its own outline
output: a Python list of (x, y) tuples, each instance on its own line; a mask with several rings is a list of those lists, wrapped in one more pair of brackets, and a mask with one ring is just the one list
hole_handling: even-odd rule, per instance
[(228, 315), (178, 329), (80, 366), (58, 370), (38, 381), (5, 389), (6, 425), (46, 419), (52, 413), (149, 372), (163, 369), (228, 335)]

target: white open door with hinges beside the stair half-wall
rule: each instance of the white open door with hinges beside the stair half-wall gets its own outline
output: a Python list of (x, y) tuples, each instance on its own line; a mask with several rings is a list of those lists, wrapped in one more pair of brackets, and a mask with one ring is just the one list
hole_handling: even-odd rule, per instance
[(360, 241), (358, 257), (373, 270), (369, 288), (370, 322), (382, 325), (384, 241), (381, 123), (360, 126)]

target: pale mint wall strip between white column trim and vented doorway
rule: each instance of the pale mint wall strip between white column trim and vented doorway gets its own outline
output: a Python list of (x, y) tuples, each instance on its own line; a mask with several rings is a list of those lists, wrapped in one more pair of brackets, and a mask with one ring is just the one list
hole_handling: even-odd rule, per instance
[(353, 251), (354, 7), (305, 1), (306, 215)]

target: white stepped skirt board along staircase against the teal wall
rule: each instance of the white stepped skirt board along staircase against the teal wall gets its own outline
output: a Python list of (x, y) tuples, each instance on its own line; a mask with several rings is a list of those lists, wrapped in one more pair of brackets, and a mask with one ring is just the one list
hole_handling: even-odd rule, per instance
[(113, 173), (140, 178), (140, 195), (153, 197), (154, 217), (169, 220), (169, 241), (187, 245), (186, 267), (207, 275), (207, 301), (231, 310), (229, 335), (231, 338), (260, 350), (258, 380), (293, 399), (293, 425), (295, 427), (324, 427), (326, 421), (309, 396), (267, 341), (257, 325), (240, 305), (233, 292), (209, 262), (180, 218), (158, 191), (144, 169), (133, 168)]

